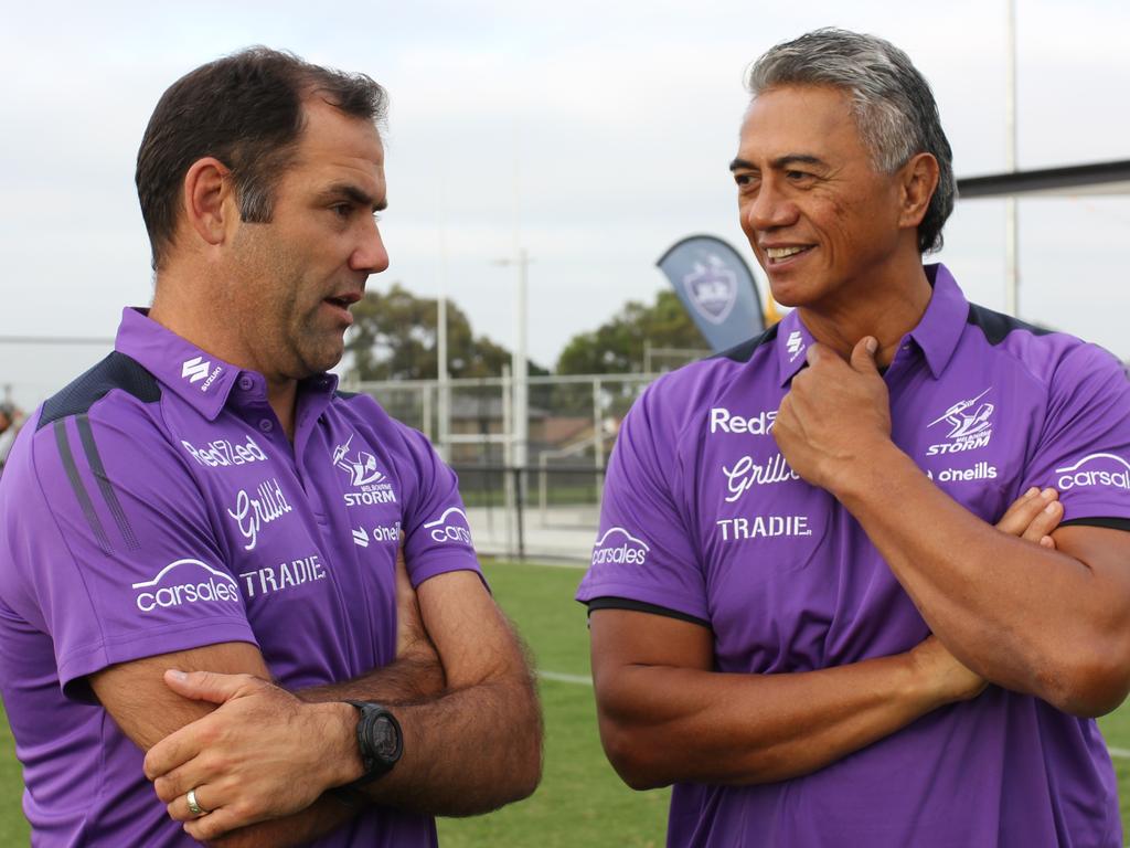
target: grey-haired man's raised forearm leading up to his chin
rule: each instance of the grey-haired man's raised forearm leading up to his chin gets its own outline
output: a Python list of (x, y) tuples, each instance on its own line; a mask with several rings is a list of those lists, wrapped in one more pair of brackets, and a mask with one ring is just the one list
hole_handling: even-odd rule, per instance
[(1109, 677), (1102, 666), (1120, 656), (1111, 646), (1127, 632), (1125, 587), (1074, 556), (998, 531), (894, 445), (844, 475), (834, 494), (966, 666), (1072, 712), (1120, 700), (1081, 692), (1079, 681)]

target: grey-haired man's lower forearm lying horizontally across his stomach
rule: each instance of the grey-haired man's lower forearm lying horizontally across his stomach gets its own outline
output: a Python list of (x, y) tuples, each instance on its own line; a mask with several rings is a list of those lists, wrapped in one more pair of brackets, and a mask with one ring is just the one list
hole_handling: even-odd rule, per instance
[(910, 654), (797, 674), (628, 666), (597, 681), (605, 750), (637, 789), (807, 775), (949, 699)]

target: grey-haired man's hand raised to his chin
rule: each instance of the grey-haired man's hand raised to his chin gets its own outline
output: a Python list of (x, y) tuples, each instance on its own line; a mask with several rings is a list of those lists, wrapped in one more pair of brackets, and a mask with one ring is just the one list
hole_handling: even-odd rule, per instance
[(824, 345), (808, 348), (808, 367), (792, 379), (773, 435), (797, 474), (834, 491), (846, 465), (890, 443), (890, 399), (866, 336), (844, 362)]

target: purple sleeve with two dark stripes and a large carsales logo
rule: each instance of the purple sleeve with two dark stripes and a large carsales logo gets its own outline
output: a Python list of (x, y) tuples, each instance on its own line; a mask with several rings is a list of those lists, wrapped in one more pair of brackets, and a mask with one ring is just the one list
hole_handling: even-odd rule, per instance
[(40, 427), (0, 495), (5, 599), (51, 637), (72, 698), (110, 665), (255, 642), (180, 457), (144, 416), (97, 412)]

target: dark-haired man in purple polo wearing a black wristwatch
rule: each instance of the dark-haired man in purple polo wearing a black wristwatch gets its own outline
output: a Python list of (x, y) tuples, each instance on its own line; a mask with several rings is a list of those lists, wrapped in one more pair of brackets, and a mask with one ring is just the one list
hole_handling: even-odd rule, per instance
[(253, 49), (153, 115), (153, 306), (36, 410), (0, 485), (36, 845), (429, 846), (432, 816), (538, 781), (531, 673), (454, 474), (325, 373), (388, 267), (384, 104)]

